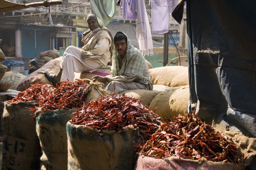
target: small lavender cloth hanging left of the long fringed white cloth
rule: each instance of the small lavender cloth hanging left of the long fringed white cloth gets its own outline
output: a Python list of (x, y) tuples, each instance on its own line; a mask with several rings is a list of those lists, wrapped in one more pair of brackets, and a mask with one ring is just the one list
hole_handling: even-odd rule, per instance
[(123, 18), (125, 19), (137, 19), (137, 0), (121, 0), (120, 6), (123, 10)]

